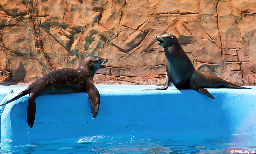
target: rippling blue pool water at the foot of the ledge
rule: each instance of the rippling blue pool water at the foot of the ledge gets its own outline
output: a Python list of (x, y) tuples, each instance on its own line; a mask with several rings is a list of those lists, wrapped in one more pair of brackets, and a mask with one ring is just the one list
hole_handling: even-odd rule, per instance
[[(240, 151), (238, 151), (240, 150)], [(254, 151), (255, 150), (255, 151)], [(130, 135), (98, 135), (19, 144), (0, 143), (0, 153), (97, 153), (97, 154), (222, 154), (256, 153), (256, 134), (237, 134), (231, 137), (203, 140), (173, 141), (137, 139)]]

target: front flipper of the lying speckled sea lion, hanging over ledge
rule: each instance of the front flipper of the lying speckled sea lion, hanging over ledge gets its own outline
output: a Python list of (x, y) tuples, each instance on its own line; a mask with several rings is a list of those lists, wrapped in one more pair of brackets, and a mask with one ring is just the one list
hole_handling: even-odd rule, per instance
[(89, 81), (89, 83), (86, 85), (86, 91), (88, 93), (88, 99), (91, 104), (93, 118), (95, 118), (99, 110), (99, 91), (91, 81)]

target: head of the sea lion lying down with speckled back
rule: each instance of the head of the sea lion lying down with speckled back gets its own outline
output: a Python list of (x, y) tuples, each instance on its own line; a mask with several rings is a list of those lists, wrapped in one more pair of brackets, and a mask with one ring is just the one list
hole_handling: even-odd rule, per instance
[(106, 64), (107, 62), (108, 62), (107, 59), (101, 58), (99, 56), (88, 56), (84, 59), (84, 61), (78, 68), (82, 69), (82, 68), (89, 67), (97, 71), (98, 69), (106, 68), (104, 64)]

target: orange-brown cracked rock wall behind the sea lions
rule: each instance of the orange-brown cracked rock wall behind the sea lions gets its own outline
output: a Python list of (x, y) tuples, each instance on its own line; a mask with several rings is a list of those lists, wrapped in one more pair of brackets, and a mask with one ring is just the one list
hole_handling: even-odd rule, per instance
[(256, 84), (256, 1), (1, 0), (0, 81), (31, 82), (89, 55), (108, 58), (96, 83), (164, 84), (155, 40), (178, 37), (194, 66)]

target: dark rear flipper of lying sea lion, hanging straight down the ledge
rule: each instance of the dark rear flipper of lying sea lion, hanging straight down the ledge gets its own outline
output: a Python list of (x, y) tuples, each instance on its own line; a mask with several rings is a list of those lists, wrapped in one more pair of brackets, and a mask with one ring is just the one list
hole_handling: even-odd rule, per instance
[(30, 95), (29, 100), (28, 100), (28, 115), (27, 115), (28, 126), (30, 125), (30, 128), (32, 128), (34, 125), (35, 110), (36, 110), (35, 98)]

